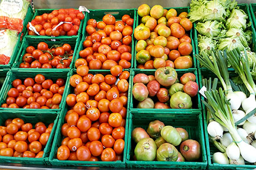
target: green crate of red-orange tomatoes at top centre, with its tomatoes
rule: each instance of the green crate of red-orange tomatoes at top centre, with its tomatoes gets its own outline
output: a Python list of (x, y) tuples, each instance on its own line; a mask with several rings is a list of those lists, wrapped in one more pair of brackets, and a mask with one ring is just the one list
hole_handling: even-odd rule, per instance
[(135, 16), (135, 9), (91, 10), (75, 61), (85, 58), (90, 69), (132, 68)]

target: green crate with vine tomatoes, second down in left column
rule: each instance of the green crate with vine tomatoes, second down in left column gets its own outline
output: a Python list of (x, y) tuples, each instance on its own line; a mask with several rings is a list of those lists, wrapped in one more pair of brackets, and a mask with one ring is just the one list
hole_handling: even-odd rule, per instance
[[(12, 68), (59, 68), (73, 67), (80, 38), (23, 39)], [(29, 69), (30, 70), (30, 69)]]

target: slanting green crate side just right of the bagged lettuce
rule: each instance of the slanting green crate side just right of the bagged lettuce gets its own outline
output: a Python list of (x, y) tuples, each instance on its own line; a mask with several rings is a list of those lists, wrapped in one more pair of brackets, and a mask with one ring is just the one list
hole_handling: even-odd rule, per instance
[(0, 65), (0, 69), (1, 68), (11, 68), (12, 67), (12, 64), (13, 64), (13, 62), (14, 62), (14, 60), (16, 59), (16, 57), (17, 57), (17, 54), (18, 54), (18, 52), (19, 52), (19, 48), (21, 48), (21, 42), (22, 42), (22, 39), (23, 39), (23, 35), (26, 33), (26, 31), (27, 31), (27, 23), (29, 22), (29, 21), (31, 21), (31, 19), (32, 19), (32, 17), (33, 17), (33, 10), (32, 10), (32, 7), (31, 6), (29, 6), (28, 7), (28, 11), (27, 11), (27, 15), (26, 15), (26, 18), (24, 19), (24, 21), (23, 21), (23, 29), (22, 29), (22, 32), (21, 33), (19, 33), (18, 34), (18, 41), (17, 41), (17, 43), (16, 43), (16, 45), (15, 45), (15, 47), (14, 47), (14, 49), (13, 49), (13, 52), (12, 52), (12, 56), (11, 56), (11, 58), (10, 58), (10, 61), (9, 61), (9, 63), (8, 64), (6, 64), (6, 65)]

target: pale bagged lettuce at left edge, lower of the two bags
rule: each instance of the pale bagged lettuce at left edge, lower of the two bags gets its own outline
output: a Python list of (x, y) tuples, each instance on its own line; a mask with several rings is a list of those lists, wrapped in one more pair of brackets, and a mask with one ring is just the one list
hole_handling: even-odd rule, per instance
[(0, 34), (0, 54), (4, 54), (4, 56), (11, 57), (17, 41), (17, 31), (4, 29), (4, 31)]

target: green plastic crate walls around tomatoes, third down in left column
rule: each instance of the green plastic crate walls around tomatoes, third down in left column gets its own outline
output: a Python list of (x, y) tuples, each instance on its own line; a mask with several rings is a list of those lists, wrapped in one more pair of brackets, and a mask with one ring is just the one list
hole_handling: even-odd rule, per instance
[(24, 113), (58, 113), (60, 114), (61, 109), (65, 106), (65, 101), (66, 98), (65, 93), (67, 91), (67, 85), (70, 84), (70, 82), (68, 81), (68, 75), (69, 75), (69, 71), (58, 71), (58, 69), (55, 72), (52, 72), (51, 70), (49, 71), (45, 71), (42, 70), (40, 72), (38, 71), (32, 71), (31, 69), (27, 68), (27, 69), (16, 69), (13, 68), (11, 69), (8, 73), (7, 73), (7, 78), (4, 80), (4, 84), (3, 84), (3, 88), (1, 90), (1, 94), (0, 94), (0, 106), (3, 103), (6, 103), (6, 98), (7, 98), (7, 93), (9, 91), (9, 89), (12, 88), (12, 82), (14, 81), (14, 79), (21, 79), (22, 82), (24, 81), (24, 79), (30, 77), (30, 78), (35, 78), (35, 76), (37, 74), (42, 74), (43, 76), (45, 76), (46, 79), (51, 79), (53, 82), (56, 81), (58, 78), (63, 78), (64, 80), (66, 80), (66, 84), (65, 84), (65, 90), (63, 92), (62, 95), (62, 99), (61, 99), (61, 103), (58, 109), (23, 109), (23, 108), (2, 108), (0, 107), (0, 112), (9, 112), (9, 113), (16, 113), (16, 112), (24, 112)]

